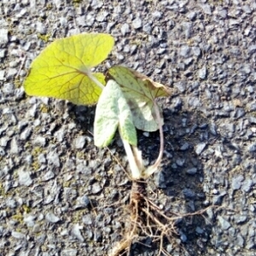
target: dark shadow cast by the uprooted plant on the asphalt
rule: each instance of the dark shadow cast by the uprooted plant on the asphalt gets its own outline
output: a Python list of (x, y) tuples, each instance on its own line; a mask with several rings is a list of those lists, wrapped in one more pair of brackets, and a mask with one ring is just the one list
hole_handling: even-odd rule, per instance
[[(166, 251), (170, 254), (201, 255), (204, 254), (212, 226), (201, 214), (184, 218), (182, 215), (207, 208), (207, 195), (203, 190), (204, 166), (201, 164), (200, 154), (207, 148), (207, 143), (214, 141), (217, 135), (212, 135), (209, 120), (200, 113), (182, 112), (180, 108), (173, 108), (172, 111), (170, 109), (172, 108), (164, 109), (163, 113), (164, 159), (160, 172), (148, 180), (148, 199), (154, 201), (169, 216), (172, 213), (174, 217), (180, 215), (176, 221), (177, 235), (173, 234), (172, 237), (173, 244), (165, 239)], [(70, 113), (74, 115), (75, 121), (81, 125), (84, 132), (92, 132), (95, 107), (72, 107)], [(158, 156), (159, 132), (138, 131), (137, 136), (139, 148), (143, 151), (143, 159), (150, 165)], [(122, 158), (125, 153), (119, 146), (115, 140), (110, 148), (117, 148), (119, 158)], [(90, 150), (90, 147), (86, 150)], [(111, 183), (108, 183), (110, 187)], [(130, 195), (130, 185), (127, 184), (122, 193), (125, 194), (126, 191), (126, 194)], [(126, 206), (119, 203), (119, 207)], [(125, 216), (124, 214), (124, 222)], [(118, 239), (117, 236), (114, 237), (112, 242)], [(132, 244), (130, 255), (157, 255), (158, 250), (158, 242), (155, 243), (154, 239), (145, 237), (142, 241)]]

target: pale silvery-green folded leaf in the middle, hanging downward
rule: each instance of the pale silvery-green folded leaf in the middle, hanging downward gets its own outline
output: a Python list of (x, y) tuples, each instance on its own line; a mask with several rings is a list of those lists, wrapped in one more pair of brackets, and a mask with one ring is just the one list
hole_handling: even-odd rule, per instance
[(137, 146), (137, 134), (129, 105), (119, 84), (109, 80), (96, 107), (94, 122), (96, 146), (99, 148), (108, 146), (118, 127), (120, 137), (131, 145)]

